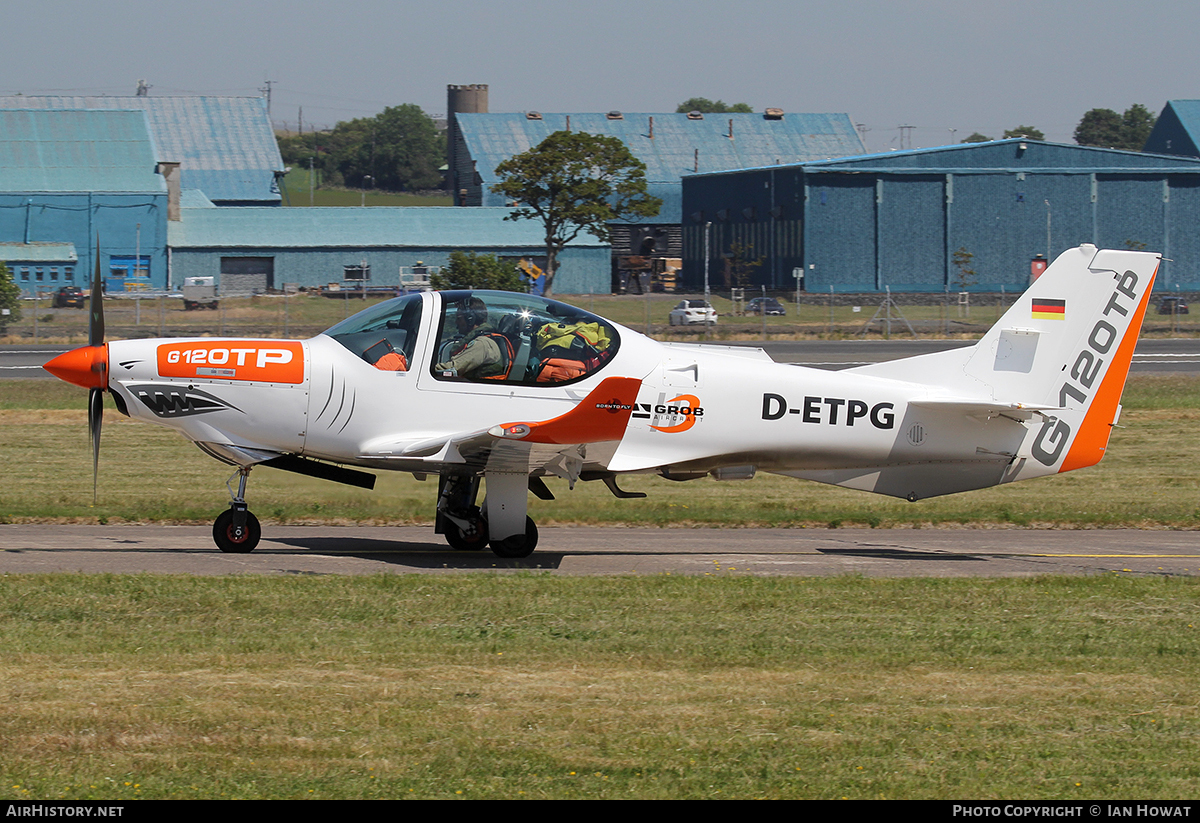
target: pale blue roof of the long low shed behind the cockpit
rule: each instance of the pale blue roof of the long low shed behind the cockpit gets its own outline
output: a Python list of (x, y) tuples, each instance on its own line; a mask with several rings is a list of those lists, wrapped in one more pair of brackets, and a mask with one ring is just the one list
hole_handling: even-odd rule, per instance
[[(168, 227), (173, 248), (540, 247), (534, 221), (503, 208), (182, 209)], [(572, 246), (607, 246), (592, 235)]]

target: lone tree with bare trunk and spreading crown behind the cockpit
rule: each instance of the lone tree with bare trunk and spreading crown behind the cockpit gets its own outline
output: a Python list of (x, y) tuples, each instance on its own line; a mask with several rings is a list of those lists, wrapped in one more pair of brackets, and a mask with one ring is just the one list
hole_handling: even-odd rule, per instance
[(492, 191), (517, 204), (504, 220), (535, 220), (545, 230), (544, 293), (552, 294), (558, 256), (582, 232), (608, 240), (608, 223), (653, 217), (662, 200), (646, 191), (646, 163), (616, 137), (554, 132), (496, 167)]

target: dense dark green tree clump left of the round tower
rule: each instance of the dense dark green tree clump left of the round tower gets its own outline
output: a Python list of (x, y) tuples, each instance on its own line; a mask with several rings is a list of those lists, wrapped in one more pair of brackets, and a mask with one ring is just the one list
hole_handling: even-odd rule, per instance
[(278, 144), (284, 163), (308, 168), (312, 161), (334, 185), (396, 192), (442, 185), (445, 140), (410, 103), (340, 122), (332, 131), (280, 138)]

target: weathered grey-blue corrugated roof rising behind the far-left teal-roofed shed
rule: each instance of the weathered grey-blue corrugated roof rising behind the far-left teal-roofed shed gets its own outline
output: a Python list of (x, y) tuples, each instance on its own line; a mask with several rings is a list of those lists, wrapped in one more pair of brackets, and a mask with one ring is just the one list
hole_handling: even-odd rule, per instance
[(0, 97), (0, 109), (14, 108), (145, 112), (156, 160), (178, 161), (185, 188), (216, 202), (280, 200), (274, 172), (283, 160), (262, 97)]

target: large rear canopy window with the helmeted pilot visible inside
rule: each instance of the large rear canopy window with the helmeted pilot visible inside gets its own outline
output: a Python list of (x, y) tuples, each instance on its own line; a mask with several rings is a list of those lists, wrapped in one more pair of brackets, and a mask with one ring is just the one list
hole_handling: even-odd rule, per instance
[(563, 384), (605, 366), (620, 344), (607, 320), (575, 306), (509, 292), (443, 292), (439, 380)]

